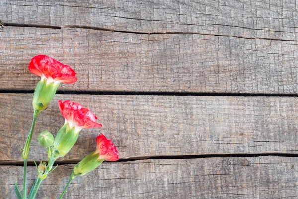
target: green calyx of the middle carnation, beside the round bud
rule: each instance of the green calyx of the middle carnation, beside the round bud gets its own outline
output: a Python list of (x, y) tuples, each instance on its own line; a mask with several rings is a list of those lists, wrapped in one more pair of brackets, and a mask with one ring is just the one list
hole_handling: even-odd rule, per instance
[(70, 128), (68, 123), (64, 124), (54, 139), (52, 156), (55, 159), (65, 156), (73, 148), (78, 134), (74, 127)]

